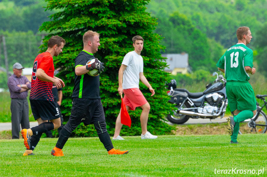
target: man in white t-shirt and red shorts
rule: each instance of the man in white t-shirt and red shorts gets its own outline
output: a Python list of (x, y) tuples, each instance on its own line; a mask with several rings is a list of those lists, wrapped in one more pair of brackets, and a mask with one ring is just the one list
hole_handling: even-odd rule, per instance
[[(123, 58), (118, 75), (118, 92), (120, 95), (124, 93), (123, 102), (125, 103), (127, 111), (134, 111), (136, 107), (142, 108), (142, 113), (140, 116), (142, 128), (141, 139), (155, 139), (157, 136), (152, 135), (149, 131), (147, 131), (150, 105), (139, 89), (139, 80), (141, 80), (151, 91), (151, 96), (155, 95), (155, 90), (149, 84), (143, 72), (144, 63), (140, 54), (143, 50), (144, 39), (141, 36), (134, 36), (132, 41), (135, 50), (127, 53)], [(120, 110), (120, 113), (116, 119), (114, 137), (112, 138), (113, 140), (124, 140), (119, 135), (122, 126), (123, 124), (121, 123)]]

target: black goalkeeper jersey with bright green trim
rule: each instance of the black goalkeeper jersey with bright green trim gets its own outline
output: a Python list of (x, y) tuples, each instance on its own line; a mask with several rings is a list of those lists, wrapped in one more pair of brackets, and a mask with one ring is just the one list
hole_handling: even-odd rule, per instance
[[(81, 51), (75, 58), (75, 68), (79, 66), (85, 66), (90, 59), (95, 57), (86, 51)], [(73, 88), (72, 98), (88, 98), (88, 99), (100, 99), (100, 81), (98, 76), (90, 76), (84, 74), (77, 76), (75, 74), (75, 85)]]

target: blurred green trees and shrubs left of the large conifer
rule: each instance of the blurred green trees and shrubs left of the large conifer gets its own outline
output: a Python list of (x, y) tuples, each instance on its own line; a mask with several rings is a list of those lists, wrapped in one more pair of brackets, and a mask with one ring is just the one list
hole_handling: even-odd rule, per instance
[[(0, 36), (5, 36), (10, 71), (15, 62), (32, 67), (46, 35), (38, 29), (56, 12), (45, 11), (46, 4), (43, 0), (0, 0)], [(5, 68), (3, 41), (0, 41), (0, 48), (0, 66)]]

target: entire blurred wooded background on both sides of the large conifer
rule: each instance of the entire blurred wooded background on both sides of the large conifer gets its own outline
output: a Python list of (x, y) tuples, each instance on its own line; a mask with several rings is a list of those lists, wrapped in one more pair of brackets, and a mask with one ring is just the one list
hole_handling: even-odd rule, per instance
[[(41, 42), (39, 26), (59, 11), (45, 10), (46, 5), (44, 0), (0, 0), (0, 35), (7, 36), (10, 70), (18, 60), (26, 67), (32, 66), (31, 61), (40, 50), (37, 48)], [(207, 63), (215, 66), (224, 49), (237, 42), (236, 29), (249, 26), (253, 39), (248, 46), (255, 51), (258, 69), (265, 72), (267, 44), (261, 40), (266, 36), (266, 1), (153, 0), (146, 7), (157, 18), (154, 32), (163, 37), (161, 45), (166, 46), (161, 53), (187, 52), (193, 70), (207, 70)], [(3, 59), (1, 52), (0, 66), (5, 67)], [(214, 68), (208, 70), (212, 72)]]

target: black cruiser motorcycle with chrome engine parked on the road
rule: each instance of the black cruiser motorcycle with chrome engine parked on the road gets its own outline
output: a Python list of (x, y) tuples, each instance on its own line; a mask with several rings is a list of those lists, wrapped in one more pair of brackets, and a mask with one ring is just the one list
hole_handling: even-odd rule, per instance
[(226, 96), (226, 79), (217, 72), (217, 78), (206, 86), (206, 90), (191, 93), (183, 88), (176, 88), (176, 80), (172, 79), (168, 86), (169, 103), (175, 104), (173, 114), (168, 114), (167, 119), (174, 124), (183, 124), (189, 118), (215, 119), (223, 117), (228, 105)]

